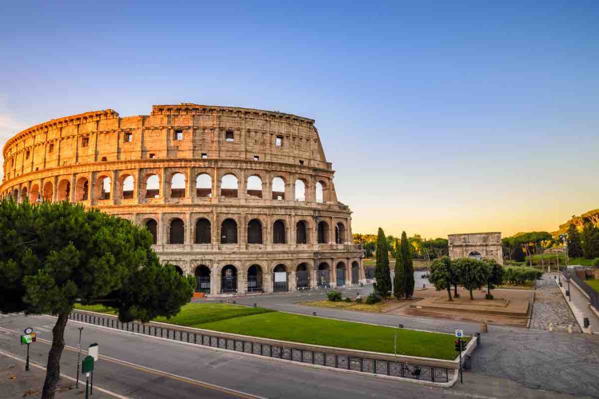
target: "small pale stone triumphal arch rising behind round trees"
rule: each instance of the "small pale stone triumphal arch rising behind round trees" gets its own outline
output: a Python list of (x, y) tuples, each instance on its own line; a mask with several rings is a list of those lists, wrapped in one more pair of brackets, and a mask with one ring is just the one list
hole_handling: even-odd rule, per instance
[(501, 233), (449, 234), (447, 238), (449, 257), (452, 259), (487, 258), (503, 264)]

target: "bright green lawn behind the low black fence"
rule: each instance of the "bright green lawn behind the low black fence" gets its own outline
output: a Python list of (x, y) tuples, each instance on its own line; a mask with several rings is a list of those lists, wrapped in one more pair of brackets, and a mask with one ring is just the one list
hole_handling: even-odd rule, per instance
[[(98, 305), (77, 306), (77, 309), (95, 312), (111, 310)], [(226, 303), (189, 303), (171, 319), (158, 318), (156, 321), (224, 333), (389, 354), (394, 353), (394, 334), (397, 333), (398, 355), (446, 360), (456, 357), (453, 345), (455, 338), (449, 334), (295, 315), (261, 307)]]

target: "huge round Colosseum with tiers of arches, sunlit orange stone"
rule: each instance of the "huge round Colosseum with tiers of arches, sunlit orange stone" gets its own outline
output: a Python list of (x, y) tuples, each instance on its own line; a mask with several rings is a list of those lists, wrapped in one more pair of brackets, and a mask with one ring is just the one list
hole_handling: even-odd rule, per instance
[(193, 103), (53, 119), (4, 145), (2, 197), (80, 202), (146, 226), (209, 294), (358, 284), (363, 248), (314, 120)]

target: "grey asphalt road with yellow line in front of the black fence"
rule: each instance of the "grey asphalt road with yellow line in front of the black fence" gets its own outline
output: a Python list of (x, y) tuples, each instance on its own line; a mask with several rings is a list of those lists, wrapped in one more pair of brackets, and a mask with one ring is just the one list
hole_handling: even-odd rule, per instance
[[(24, 347), (19, 345), (21, 331), (25, 327), (34, 327), (38, 337), (51, 339), (54, 322), (55, 318), (50, 316), (2, 315), (0, 352), (24, 358)], [(66, 345), (77, 346), (77, 327), (80, 325), (72, 321), (68, 322), (65, 331)], [(83, 327), (81, 346), (87, 348), (90, 343), (99, 343), (101, 358), (95, 368), (96, 386), (121, 397), (169, 399), (570, 397), (565, 394), (525, 388), (521, 383), (513, 380), (477, 373), (465, 373), (464, 385), (437, 388), (374, 376), (319, 370), (91, 325), (83, 325)], [(488, 346), (491, 346), (490, 343)], [(45, 365), (49, 348), (49, 344), (42, 340), (32, 344), (32, 361)], [(77, 353), (65, 350), (61, 360), (62, 373), (74, 377), (76, 364)]]

